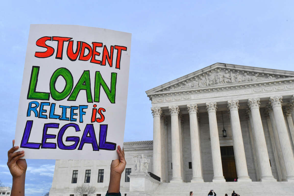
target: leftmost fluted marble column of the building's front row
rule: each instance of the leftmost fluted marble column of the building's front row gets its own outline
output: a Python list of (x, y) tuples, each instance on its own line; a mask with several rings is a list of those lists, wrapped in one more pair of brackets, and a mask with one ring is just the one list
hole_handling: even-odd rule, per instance
[(161, 123), (160, 107), (151, 108), (153, 115), (153, 173), (162, 178), (161, 175)]

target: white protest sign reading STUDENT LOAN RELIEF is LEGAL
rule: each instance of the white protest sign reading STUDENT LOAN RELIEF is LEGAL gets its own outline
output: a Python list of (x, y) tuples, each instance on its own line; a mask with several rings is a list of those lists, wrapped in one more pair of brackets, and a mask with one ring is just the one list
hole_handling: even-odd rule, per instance
[(131, 33), (31, 25), (15, 145), (32, 159), (116, 159), (123, 146)]

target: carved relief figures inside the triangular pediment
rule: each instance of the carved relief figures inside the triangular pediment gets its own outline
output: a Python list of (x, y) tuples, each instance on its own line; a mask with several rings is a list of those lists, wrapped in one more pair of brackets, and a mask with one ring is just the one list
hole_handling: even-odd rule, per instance
[[(174, 84), (169, 86), (161, 91), (173, 91), (179, 89), (186, 88), (198, 88), (205, 86), (218, 86), (223, 84), (230, 83), (244, 83), (251, 81), (261, 81), (261, 80), (269, 80), (276, 79), (274, 75), (263, 74), (257, 72), (248, 72), (240, 74), (238, 70), (225, 70), (221, 71), (220, 69), (216, 69), (213, 71), (209, 71), (206, 73), (199, 74), (198, 76), (194, 76), (188, 80), (182, 81), (181, 83)], [(250, 75), (249, 75), (250, 73)]]

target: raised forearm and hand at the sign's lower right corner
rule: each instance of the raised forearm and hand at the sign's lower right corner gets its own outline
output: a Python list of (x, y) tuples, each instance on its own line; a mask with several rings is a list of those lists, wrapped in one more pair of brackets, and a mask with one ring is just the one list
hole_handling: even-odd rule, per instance
[(109, 186), (108, 191), (106, 193), (107, 195), (116, 195), (121, 196), (121, 193), (119, 192), (120, 183), (121, 183), (121, 174), (125, 170), (126, 167), (126, 159), (125, 159), (125, 152), (124, 150), (121, 150), (121, 147), (118, 146), (118, 149), (116, 150), (119, 159), (112, 160), (111, 166), (110, 166), (110, 180), (109, 180)]

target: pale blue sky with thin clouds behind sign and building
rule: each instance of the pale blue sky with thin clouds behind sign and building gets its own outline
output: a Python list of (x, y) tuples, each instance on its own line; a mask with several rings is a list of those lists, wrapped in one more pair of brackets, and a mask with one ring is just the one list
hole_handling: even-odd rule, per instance
[[(294, 71), (293, 1), (3, 1), (0, 10), (0, 180), (11, 186), (14, 138), (30, 24), (132, 33), (125, 141), (152, 140), (145, 91), (216, 62)], [(292, 13), (292, 14), (291, 14)], [(26, 195), (51, 187), (55, 160), (27, 160)]]

